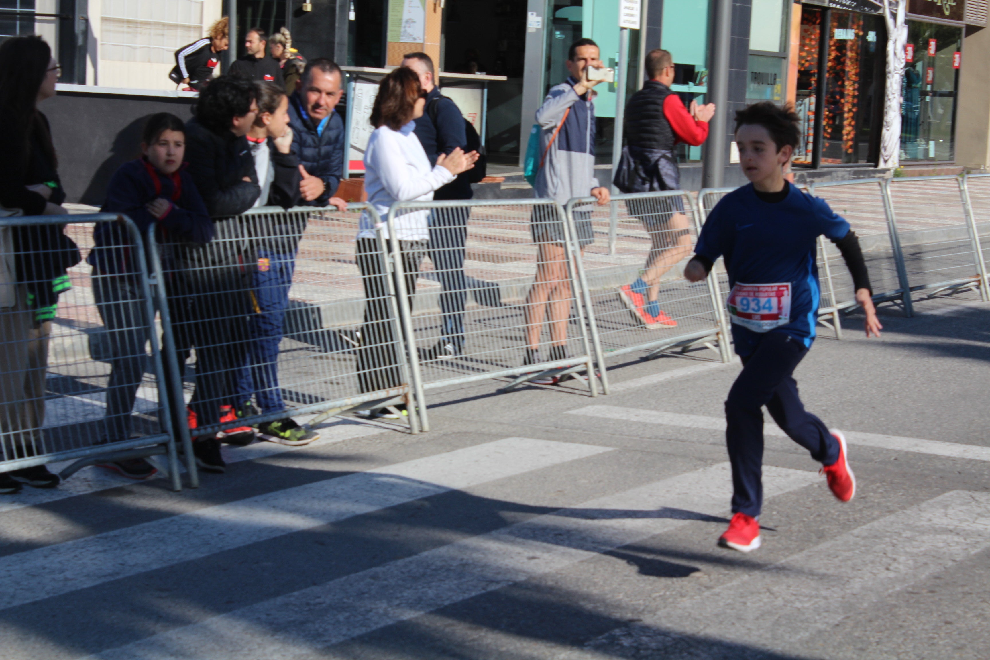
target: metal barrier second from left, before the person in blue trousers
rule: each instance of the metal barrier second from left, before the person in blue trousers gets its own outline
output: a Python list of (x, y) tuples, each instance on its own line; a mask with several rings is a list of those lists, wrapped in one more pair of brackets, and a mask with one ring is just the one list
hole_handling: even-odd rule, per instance
[[(371, 237), (355, 249), (360, 214)], [(168, 311), (169, 370), (181, 384), (175, 408), (188, 406), (183, 435), (239, 443), (231, 429), (256, 426), (261, 439), (294, 444), (276, 434), (287, 424), (271, 423), (318, 414), (303, 426), (310, 430), (357, 408), (415, 410), (380, 226), (367, 204), (262, 207), (215, 221), (206, 245), (158, 242), (155, 295)], [(415, 414), (409, 426), (419, 431)]]

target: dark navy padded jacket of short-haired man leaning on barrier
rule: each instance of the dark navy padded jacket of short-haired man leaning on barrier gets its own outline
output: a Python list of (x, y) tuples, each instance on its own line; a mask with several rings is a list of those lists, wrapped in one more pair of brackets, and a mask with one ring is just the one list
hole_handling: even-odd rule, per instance
[(299, 92), (296, 92), (289, 97), (289, 126), (292, 127), (292, 152), (299, 157), (306, 171), (319, 176), (327, 188), (312, 202), (300, 204), (327, 206), (327, 201), (337, 192), (344, 176), (344, 120), (335, 110), (330, 114), (323, 133), (318, 133), (313, 120), (306, 115)]

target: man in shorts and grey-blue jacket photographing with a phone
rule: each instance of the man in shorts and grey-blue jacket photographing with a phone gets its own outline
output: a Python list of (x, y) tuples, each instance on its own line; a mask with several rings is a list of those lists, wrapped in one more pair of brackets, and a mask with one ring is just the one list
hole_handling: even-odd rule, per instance
[[(574, 42), (566, 61), (570, 76), (550, 88), (537, 110), (541, 129), (540, 150), (543, 164), (537, 172), (536, 195), (564, 205), (573, 197), (594, 196), (599, 205), (609, 203), (609, 189), (595, 178), (595, 105), (592, 87), (601, 80), (590, 80), (589, 69), (601, 68), (598, 45), (590, 39)], [(576, 239), (581, 250), (594, 242), (591, 212), (575, 211)], [(531, 219), (533, 239), (539, 244), (537, 277), (526, 297), (526, 358), (524, 364), (562, 360), (567, 356), (567, 323), (571, 309), (570, 279), (564, 249), (564, 221), (556, 209), (543, 206)], [(550, 350), (539, 354), (547, 304), (549, 307)], [(556, 376), (534, 383), (555, 384)]]

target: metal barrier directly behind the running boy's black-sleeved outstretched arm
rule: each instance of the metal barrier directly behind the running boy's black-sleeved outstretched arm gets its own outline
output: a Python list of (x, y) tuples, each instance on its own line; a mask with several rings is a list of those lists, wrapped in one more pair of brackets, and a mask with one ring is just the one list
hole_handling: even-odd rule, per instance
[[(873, 302), (901, 301), (905, 313), (911, 316), (911, 292), (886, 185), (884, 179), (857, 179), (813, 183), (809, 191), (848, 221), (858, 236), (873, 287)], [(824, 236), (819, 237), (819, 278), (820, 318), (832, 316), (836, 335), (841, 338), (839, 314), (856, 306), (855, 290), (839, 249)]]

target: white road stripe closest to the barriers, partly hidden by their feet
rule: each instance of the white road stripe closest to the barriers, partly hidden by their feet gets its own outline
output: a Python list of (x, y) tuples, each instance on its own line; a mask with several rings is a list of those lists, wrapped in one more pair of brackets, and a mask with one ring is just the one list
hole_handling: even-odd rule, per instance
[[(297, 418), (297, 421), (303, 423), (305, 422), (305, 419)], [(259, 441), (253, 442), (244, 447), (225, 445), (221, 451), (223, 452), (224, 460), (228, 464), (240, 463), (241, 461), (256, 460), (258, 458), (274, 456), (286, 451), (314, 449), (324, 444), (342, 442), (355, 437), (365, 437), (367, 435), (384, 433), (386, 430), (390, 430), (390, 428), (366, 422), (356, 422), (354, 420), (339, 420), (334, 424), (319, 426), (317, 430), (320, 433), (320, 438), (309, 444), (293, 446), (278, 444), (276, 442)], [(157, 458), (154, 460), (159, 468), (165, 466), (165, 461)], [(52, 472), (58, 472), (59, 470), (67, 467), (71, 462), (72, 461), (59, 461), (56, 463), (49, 463), (49, 469)], [(148, 481), (161, 478), (164, 478), (164, 474), (159, 472), (154, 477), (151, 477), (151, 479), (148, 479)], [(83, 468), (79, 472), (72, 475), (71, 478), (59, 484), (58, 488), (26, 488), (16, 495), (4, 496), (3, 499), (0, 500), (0, 515), (17, 511), (18, 509), (24, 509), (25, 507), (35, 507), (38, 505), (48, 504), (49, 502), (64, 500), (65, 498), (74, 498), (80, 495), (97, 493), (99, 491), (105, 491), (108, 488), (135, 486), (142, 483), (146, 482), (136, 482), (134, 479), (122, 477), (102, 468)]]

